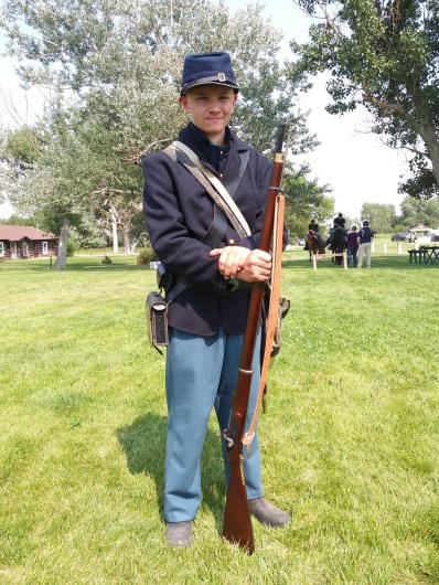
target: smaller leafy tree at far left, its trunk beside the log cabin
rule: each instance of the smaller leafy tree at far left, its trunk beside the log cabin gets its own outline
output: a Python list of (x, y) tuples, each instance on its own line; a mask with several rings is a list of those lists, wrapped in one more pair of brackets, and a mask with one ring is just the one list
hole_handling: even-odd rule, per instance
[[(69, 129), (71, 119), (58, 105), (33, 128), (10, 131), (8, 196), (22, 216), (34, 216), (42, 226), (61, 234), (54, 268), (65, 268), (71, 225), (81, 223), (88, 177), (78, 169), (89, 151)], [(35, 146), (38, 145), (38, 147)]]

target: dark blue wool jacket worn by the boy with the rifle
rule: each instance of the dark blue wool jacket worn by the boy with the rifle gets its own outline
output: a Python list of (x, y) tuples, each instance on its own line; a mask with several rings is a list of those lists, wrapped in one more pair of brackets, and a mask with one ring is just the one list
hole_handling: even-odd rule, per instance
[[(258, 246), (264, 210), (271, 177), (271, 163), (227, 128), (225, 148), (212, 146), (191, 123), (179, 135), (201, 161), (223, 183), (239, 172), (239, 152), (249, 150), (244, 177), (234, 195), (251, 235), (240, 240), (227, 226), (223, 241), (255, 249)], [(144, 177), (143, 211), (152, 247), (165, 268), (191, 284), (169, 309), (169, 323), (183, 331), (212, 336), (220, 327), (229, 334), (243, 333), (247, 318), (249, 289), (229, 292), (228, 281), (217, 269), (217, 258), (202, 242), (213, 219), (213, 203), (196, 179), (164, 152), (150, 155), (142, 162)]]

